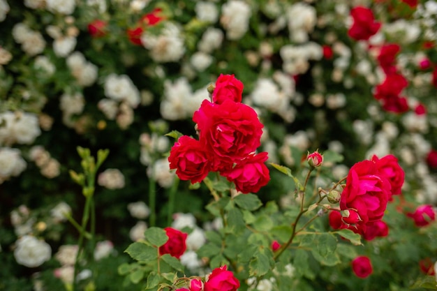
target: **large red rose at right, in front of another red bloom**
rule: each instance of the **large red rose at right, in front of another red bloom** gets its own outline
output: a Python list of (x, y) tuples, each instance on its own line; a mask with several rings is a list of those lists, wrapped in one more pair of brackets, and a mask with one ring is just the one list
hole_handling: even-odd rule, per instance
[(379, 221), (387, 208), (390, 191), (390, 182), (380, 176), (376, 163), (355, 163), (349, 170), (346, 187), (341, 193), (340, 209), (356, 212), (360, 224)]

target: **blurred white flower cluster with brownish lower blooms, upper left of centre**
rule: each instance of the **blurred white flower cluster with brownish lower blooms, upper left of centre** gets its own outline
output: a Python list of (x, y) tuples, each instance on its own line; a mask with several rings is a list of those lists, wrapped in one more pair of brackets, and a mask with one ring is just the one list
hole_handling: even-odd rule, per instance
[(110, 74), (105, 79), (105, 96), (98, 102), (105, 116), (116, 119), (121, 129), (126, 129), (133, 122), (133, 108), (140, 104), (140, 91), (128, 75)]

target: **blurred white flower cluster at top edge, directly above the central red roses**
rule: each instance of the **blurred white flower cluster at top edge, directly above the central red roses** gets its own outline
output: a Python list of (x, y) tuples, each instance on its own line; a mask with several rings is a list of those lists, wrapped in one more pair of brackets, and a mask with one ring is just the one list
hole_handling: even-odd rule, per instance
[(251, 7), (244, 1), (230, 0), (221, 8), (220, 23), (226, 30), (226, 38), (239, 40), (249, 29)]

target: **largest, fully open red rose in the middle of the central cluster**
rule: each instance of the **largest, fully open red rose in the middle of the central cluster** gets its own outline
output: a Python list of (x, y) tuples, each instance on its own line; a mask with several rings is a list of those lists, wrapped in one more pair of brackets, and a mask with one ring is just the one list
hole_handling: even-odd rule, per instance
[(260, 146), (263, 125), (255, 110), (243, 103), (203, 100), (193, 121), (198, 125), (200, 142), (214, 155), (214, 171), (229, 167)]

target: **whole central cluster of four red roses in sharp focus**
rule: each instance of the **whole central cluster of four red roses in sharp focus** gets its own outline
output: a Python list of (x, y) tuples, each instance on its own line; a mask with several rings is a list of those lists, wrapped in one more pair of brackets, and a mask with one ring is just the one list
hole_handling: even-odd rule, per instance
[(199, 140), (183, 135), (170, 150), (170, 169), (179, 179), (198, 183), (219, 172), (242, 193), (258, 192), (269, 181), (267, 153), (255, 154), (263, 125), (255, 110), (241, 103), (243, 83), (234, 75), (220, 75), (212, 102), (203, 100), (193, 121)]

